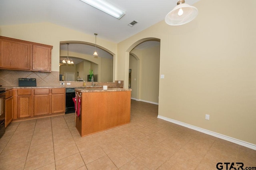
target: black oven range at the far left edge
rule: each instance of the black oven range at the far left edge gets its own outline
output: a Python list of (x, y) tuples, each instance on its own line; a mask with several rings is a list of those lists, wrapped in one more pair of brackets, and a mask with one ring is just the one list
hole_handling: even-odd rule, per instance
[(5, 88), (0, 88), (0, 138), (5, 132)]

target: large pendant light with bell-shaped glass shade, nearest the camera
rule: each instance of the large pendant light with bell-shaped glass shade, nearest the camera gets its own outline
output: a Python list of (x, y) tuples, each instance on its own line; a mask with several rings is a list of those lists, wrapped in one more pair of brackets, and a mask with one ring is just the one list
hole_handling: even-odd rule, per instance
[(185, 0), (179, 0), (177, 6), (166, 15), (165, 22), (170, 26), (179, 26), (194, 20), (197, 15), (196, 7), (185, 4)]

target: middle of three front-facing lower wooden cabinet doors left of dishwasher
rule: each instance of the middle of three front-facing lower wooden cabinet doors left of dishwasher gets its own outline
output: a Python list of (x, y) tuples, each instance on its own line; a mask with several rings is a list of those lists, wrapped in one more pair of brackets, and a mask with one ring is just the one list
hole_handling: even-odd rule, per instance
[(34, 116), (50, 114), (49, 95), (34, 95)]

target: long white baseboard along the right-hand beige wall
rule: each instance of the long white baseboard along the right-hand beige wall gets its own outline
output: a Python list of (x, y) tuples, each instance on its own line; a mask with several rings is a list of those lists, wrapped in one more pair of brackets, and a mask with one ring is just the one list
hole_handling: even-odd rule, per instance
[(163, 116), (160, 116), (160, 115), (158, 115), (157, 118), (163, 119), (165, 121), (168, 121), (168, 122), (171, 122), (171, 123), (175, 123), (177, 125), (181, 125), (183, 127), (187, 127), (187, 128), (190, 128), (190, 129), (193, 129), (193, 130), (205, 133), (205, 134), (209, 134), (211, 136), (215, 136), (217, 138), (221, 138), (221, 139), (224, 139), (224, 140), (227, 140), (229, 142), (233, 142), (233, 143), (239, 144), (241, 146), (245, 146), (245, 147), (253, 149), (253, 150), (256, 150), (256, 144), (248, 143), (248, 142), (236, 139), (236, 138), (232, 138), (232, 137), (229, 137), (229, 136), (226, 136), (226, 135), (223, 135), (223, 134), (212, 132), (212, 131), (206, 130), (204, 128), (200, 128), (200, 127), (196, 127), (196, 126), (193, 126), (193, 125), (189, 125), (189, 124), (186, 124), (186, 123), (183, 123), (183, 122), (180, 122), (180, 121), (176, 121), (174, 119), (169, 119), (167, 117), (163, 117)]

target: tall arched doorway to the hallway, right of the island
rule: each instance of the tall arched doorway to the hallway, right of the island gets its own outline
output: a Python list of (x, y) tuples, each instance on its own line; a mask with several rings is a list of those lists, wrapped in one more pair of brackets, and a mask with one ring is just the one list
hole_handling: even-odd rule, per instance
[(130, 87), (132, 99), (158, 104), (160, 40), (146, 38), (133, 45), (129, 52), (129, 69), (133, 68)]

